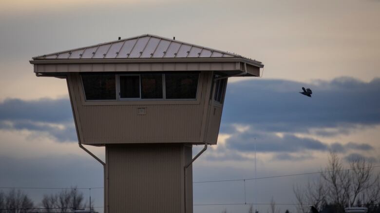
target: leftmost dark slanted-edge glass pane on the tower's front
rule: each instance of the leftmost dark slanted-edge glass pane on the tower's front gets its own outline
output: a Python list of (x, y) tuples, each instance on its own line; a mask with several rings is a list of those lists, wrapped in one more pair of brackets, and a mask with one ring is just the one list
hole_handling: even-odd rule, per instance
[(82, 74), (81, 76), (87, 100), (116, 99), (115, 75)]

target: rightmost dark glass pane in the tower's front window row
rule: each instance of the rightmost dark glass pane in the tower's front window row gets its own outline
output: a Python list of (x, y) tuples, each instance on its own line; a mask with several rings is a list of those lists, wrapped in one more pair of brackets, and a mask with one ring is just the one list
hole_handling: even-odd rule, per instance
[(197, 95), (199, 73), (165, 74), (167, 99), (194, 99)]

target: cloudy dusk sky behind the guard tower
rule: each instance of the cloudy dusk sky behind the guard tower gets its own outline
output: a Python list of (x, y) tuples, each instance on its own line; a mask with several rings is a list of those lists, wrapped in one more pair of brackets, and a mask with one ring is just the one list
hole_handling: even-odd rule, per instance
[[(255, 146), (257, 177), (319, 171), (330, 150), (380, 164), (379, 11), (379, 0), (2, 0), (0, 187), (102, 186), (101, 165), (77, 146), (66, 82), (37, 78), (29, 60), (146, 33), (265, 64), (262, 78), (229, 80), (218, 145), (194, 163), (194, 181), (254, 177)], [(315, 178), (246, 181), (246, 200), (293, 203), (292, 187)], [(194, 183), (194, 204), (241, 203), (243, 184)], [(26, 192), (38, 203), (55, 190)], [(103, 205), (101, 189), (91, 195)]]

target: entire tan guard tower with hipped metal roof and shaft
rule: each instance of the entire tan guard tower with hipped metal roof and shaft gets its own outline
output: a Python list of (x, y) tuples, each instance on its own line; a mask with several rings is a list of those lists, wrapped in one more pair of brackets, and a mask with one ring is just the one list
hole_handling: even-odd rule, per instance
[[(104, 166), (106, 213), (192, 213), (192, 162), (216, 145), (227, 80), (264, 65), (145, 34), (34, 57), (66, 79), (79, 146)], [(105, 146), (104, 163), (84, 145)], [(192, 145), (205, 145), (192, 158)]]

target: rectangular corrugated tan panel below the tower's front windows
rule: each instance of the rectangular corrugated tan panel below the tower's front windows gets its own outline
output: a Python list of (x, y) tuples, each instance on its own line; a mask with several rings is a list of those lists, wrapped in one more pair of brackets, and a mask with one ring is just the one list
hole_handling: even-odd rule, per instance
[[(147, 115), (137, 115), (145, 107)], [(197, 142), (200, 105), (84, 106), (84, 143)]]

